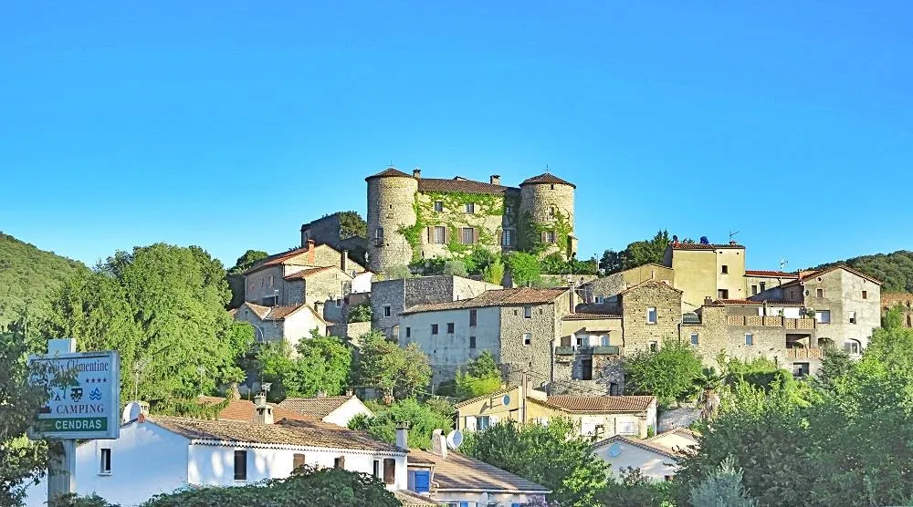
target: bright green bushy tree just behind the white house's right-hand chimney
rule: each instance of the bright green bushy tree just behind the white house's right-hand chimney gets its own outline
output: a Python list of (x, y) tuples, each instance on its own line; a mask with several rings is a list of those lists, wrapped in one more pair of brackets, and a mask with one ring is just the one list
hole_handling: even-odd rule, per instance
[(435, 429), (453, 429), (453, 407), (446, 402), (419, 403), (415, 398), (395, 402), (391, 406), (369, 403), (373, 416), (359, 414), (349, 421), (349, 428), (366, 430), (377, 440), (396, 441), (396, 424), (408, 420), (409, 447), (431, 449), (431, 434)]

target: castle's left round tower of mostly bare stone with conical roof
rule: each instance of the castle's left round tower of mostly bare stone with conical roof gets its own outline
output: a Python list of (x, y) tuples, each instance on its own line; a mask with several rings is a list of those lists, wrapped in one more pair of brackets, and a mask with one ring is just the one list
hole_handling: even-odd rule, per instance
[(364, 179), (368, 182), (368, 269), (383, 273), (412, 261), (412, 246), (399, 233), (415, 225), (418, 180), (391, 167)]

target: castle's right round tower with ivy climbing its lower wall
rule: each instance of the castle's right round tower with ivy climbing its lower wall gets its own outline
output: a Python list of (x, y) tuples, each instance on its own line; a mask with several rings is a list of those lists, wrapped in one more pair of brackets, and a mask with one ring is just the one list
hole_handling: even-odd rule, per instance
[(521, 227), (530, 227), (524, 233), (528, 241), (541, 242), (545, 246), (543, 255), (559, 252), (570, 257), (576, 254), (577, 238), (573, 233), (576, 185), (546, 172), (523, 181), (519, 188), (520, 223)]

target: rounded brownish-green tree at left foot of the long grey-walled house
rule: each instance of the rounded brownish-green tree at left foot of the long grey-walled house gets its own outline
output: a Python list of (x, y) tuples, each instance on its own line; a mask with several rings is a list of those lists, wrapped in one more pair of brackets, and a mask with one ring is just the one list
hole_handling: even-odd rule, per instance
[(412, 398), (431, 383), (428, 357), (417, 344), (399, 347), (383, 333), (372, 331), (359, 338), (361, 353), (352, 367), (354, 383), (380, 388), (396, 398)]

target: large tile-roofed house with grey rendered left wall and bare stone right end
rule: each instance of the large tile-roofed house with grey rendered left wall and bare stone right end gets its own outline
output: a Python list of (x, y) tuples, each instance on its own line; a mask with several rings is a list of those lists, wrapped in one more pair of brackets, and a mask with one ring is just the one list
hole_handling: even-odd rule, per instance
[(572, 313), (572, 291), (529, 287), (490, 290), (471, 299), (415, 305), (400, 316), (399, 343), (428, 355), (435, 386), (488, 351), (506, 380), (523, 371), (537, 385), (551, 382), (552, 352), (561, 317)]

